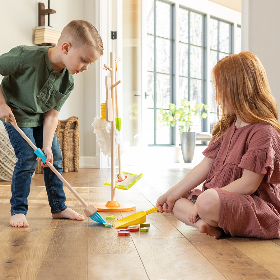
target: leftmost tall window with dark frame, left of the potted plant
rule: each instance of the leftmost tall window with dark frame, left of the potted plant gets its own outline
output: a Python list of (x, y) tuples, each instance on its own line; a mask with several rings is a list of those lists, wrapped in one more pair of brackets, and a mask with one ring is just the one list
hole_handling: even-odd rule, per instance
[(159, 124), (159, 110), (172, 102), (172, 6), (147, 1), (148, 144), (170, 144), (170, 128)]

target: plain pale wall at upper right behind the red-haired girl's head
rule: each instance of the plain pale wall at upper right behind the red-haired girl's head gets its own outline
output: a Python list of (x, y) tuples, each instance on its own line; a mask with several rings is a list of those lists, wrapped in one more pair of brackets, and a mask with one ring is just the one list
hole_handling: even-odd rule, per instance
[(242, 0), (242, 50), (257, 55), (280, 108), (280, 1)]

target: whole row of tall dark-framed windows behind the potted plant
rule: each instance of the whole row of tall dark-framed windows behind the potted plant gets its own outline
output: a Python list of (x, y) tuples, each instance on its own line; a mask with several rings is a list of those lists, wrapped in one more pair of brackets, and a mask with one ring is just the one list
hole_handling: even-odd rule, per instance
[[(236, 39), (235, 52), (241, 51), (240, 25), (234, 29), (236, 23), (178, 5), (178, 24), (175, 26), (175, 2), (147, 0), (149, 145), (175, 145), (178, 129), (160, 124), (159, 111), (167, 109), (169, 103), (180, 104), (182, 99), (193, 105), (198, 102), (209, 105), (208, 118), (197, 118), (193, 131), (211, 131), (217, 122), (217, 108), (212, 75), (207, 71), (212, 71), (220, 59), (234, 53), (233, 38)], [(176, 38), (175, 34), (178, 34)], [(176, 45), (178, 54), (175, 54)]]

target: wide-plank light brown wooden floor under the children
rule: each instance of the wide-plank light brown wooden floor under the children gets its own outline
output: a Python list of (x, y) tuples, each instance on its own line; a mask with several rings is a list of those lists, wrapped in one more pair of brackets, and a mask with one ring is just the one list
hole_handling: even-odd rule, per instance
[[(188, 168), (124, 169), (143, 173), (131, 189), (116, 190), (119, 203), (134, 203), (136, 211), (155, 206), (161, 193), (179, 182)], [(90, 203), (110, 200), (103, 182), (110, 170), (80, 169), (64, 173), (73, 188)], [(184, 225), (171, 214), (147, 216), (148, 232), (118, 236), (91, 219), (53, 219), (43, 176), (36, 174), (29, 195), (30, 232), (13, 228), (10, 182), (0, 182), (0, 279), (280, 279), (280, 239), (261, 240), (222, 236), (214, 240)], [(67, 205), (83, 207), (65, 188)], [(100, 212), (116, 219), (131, 212)]]

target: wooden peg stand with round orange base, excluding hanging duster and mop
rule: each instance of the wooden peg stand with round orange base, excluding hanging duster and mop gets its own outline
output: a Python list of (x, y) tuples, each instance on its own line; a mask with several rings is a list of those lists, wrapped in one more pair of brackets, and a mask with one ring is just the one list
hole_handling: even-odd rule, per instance
[[(107, 65), (104, 65), (104, 67), (109, 70), (110, 72), (110, 78), (109, 76), (106, 76), (105, 82), (106, 82), (106, 93), (107, 93), (107, 99), (109, 97), (109, 100), (111, 98), (112, 100), (112, 111), (110, 114), (112, 114), (112, 121), (111, 121), (111, 200), (108, 201), (106, 204), (95, 204), (94, 206), (98, 209), (100, 212), (121, 212), (121, 211), (131, 211), (136, 209), (136, 205), (129, 204), (129, 203), (119, 203), (116, 200), (116, 87), (120, 83), (120, 81), (115, 81), (115, 62), (119, 61), (120, 58), (115, 60), (114, 52), (110, 53), (110, 67)], [(111, 83), (110, 83), (110, 82)], [(109, 87), (110, 86), (110, 87)], [(111, 96), (108, 96), (110, 93)], [(110, 110), (108, 110), (110, 111)], [(109, 112), (108, 112), (109, 113)], [(106, 108), (106, 118), (108, 118), (107, 114), (107, 108)], [(107, 119), (108, 121), (108, 119)], [(119, 156), (120, 157), (120, 156)]]

